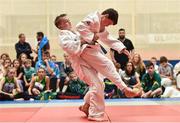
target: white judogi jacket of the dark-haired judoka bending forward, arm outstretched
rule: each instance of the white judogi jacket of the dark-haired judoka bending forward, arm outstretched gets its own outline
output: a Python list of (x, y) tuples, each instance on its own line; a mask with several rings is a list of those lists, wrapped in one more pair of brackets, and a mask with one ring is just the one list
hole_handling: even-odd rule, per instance
[(124, 44), (109, 35), (107, 30), (100, 32), (101, 14), (94, 12), (89, 14), (81, 22), (76, 25), (77, 31), (80, 33), (81, 38), (87, 43), (92, 43), (95, 33), (98, 35), (99, 40), (108, 45), (112, 49), (121, 53), (125, 48)]

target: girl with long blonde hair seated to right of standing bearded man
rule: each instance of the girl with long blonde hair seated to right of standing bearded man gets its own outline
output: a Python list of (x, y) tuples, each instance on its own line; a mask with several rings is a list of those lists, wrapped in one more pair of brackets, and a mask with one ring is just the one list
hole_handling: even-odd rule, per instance
[(146, 73), (146, 69), (140, 54), (135, 53), (133, 55), (132, 62), (134, 64), (135, 71), (139, 74), (139, 78), (141, 80), (142, 76)]

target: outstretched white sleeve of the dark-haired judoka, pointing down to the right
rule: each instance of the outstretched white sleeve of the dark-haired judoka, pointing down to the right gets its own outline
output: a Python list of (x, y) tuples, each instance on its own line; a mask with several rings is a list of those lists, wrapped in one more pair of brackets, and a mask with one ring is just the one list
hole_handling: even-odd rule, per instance
[(104, 32), (98, 33), (97, 35), (99, 40), (108, 45), (110, 48), (116, 50), (118, 53), (121, 53), (121, 51), (126, 48), (122, 42), (113, 38), (106, 30)]

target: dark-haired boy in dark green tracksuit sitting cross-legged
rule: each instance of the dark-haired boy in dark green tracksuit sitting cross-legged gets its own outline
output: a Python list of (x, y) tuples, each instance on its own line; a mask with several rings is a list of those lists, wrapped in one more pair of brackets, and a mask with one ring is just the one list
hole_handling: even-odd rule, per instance
[(147, 73), (142, 77), (141, 86), (143, 88), (142, 98), (160, 97), (163, 93), (161, 87), (161, 77), (155, 72), (154, 64), (148, 62), (146, 64)]

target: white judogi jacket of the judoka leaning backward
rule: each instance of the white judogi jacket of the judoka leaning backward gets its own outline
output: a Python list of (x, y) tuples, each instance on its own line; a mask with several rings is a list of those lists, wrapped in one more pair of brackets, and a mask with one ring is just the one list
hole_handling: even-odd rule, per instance
[(68, 53), (74, 71), (77, 73), (79, 78), (83, 80), (84, 73), (81, 65), (89, 68), (90, 66), (80, 58), (83, 48), (81, 47), (79, 35), (69, 30), (60, 30), (59, 44), (61, 48)]

